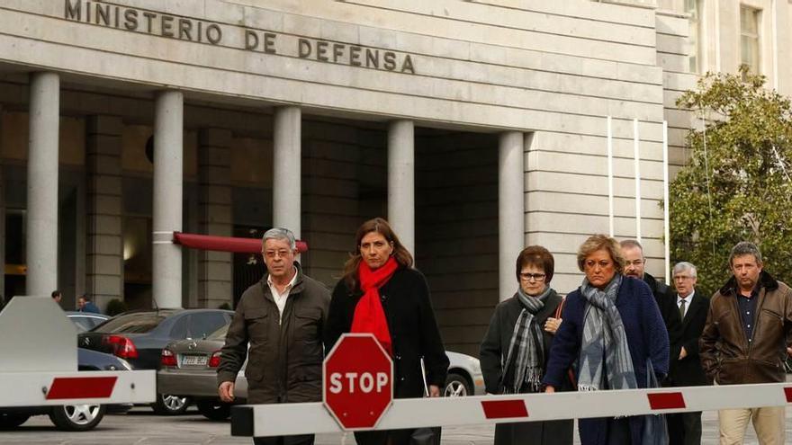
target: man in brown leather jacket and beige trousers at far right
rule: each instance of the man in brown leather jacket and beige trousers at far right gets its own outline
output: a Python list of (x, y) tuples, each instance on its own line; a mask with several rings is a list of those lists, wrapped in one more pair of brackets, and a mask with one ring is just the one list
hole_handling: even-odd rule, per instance
[[(701, 366), (716, 385), (785, 381), (783, 360), (792, 345), (792, 290), (762, 270), (759, 248), (732, 248), (734, 276), (710, 300), (699, 340)], [(761, 444), (784, 442), (783, 406), (718, 412), (721, 444), (743, 443), (748, 421)]]

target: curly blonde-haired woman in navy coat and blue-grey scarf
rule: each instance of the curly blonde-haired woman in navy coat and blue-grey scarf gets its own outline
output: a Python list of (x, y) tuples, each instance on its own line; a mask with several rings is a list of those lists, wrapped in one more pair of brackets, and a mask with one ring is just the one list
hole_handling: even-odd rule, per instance
[[(555, 334), (544, 383), (563, 384), (575, 364), (579, 391), (646, 387), (647, 363), (660, 380), (669, 366), (669, 338), (652, 290), (623, 275), (617, 241), (591, 236), (578, 250), (586, 274), (567, 296), (563, 324)], [(581, 419), (582, 445), (641, 445), (644, 416)]]

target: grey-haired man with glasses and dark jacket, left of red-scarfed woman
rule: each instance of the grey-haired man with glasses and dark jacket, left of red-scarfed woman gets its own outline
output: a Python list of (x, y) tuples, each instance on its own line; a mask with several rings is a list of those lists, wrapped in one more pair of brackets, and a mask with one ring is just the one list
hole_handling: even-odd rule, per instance
[[(217, 371), (220, 399), (233, 401), (234, 382), (247, 355), (248, 404), (320, 402), (329, 289), (302, 274), (294, 261), (291, 231), (267, 230), (262, 254), (269, 274), (242, 294), (226, 334)], [(313, 434), (254, 439), (266, 445), (313, 441)]]

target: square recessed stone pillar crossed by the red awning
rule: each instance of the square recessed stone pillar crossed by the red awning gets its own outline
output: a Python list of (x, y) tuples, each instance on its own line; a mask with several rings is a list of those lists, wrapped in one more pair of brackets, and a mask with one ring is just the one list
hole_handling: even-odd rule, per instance
[[(198, 229), (205, 235), (232, 236), (231, 132), (202, 129), (198, 134)], [(198, 255), (198, 307), (233, 304), (233, 257), (228, 252)]]

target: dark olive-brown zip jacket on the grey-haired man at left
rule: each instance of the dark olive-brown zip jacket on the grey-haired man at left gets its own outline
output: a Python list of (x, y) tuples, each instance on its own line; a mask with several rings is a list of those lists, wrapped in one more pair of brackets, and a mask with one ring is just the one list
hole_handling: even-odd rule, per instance
[(330, 292), (319, 281), (303, 275), (298, 263), (294, 265), (297, 280), (286, 298), (281, 323), (265, 276), (242, 294), (226, 334), (218, 385), (236, 380), (247, 355), (245, 377), (250, 404), (321, 400), (322, 332)]

